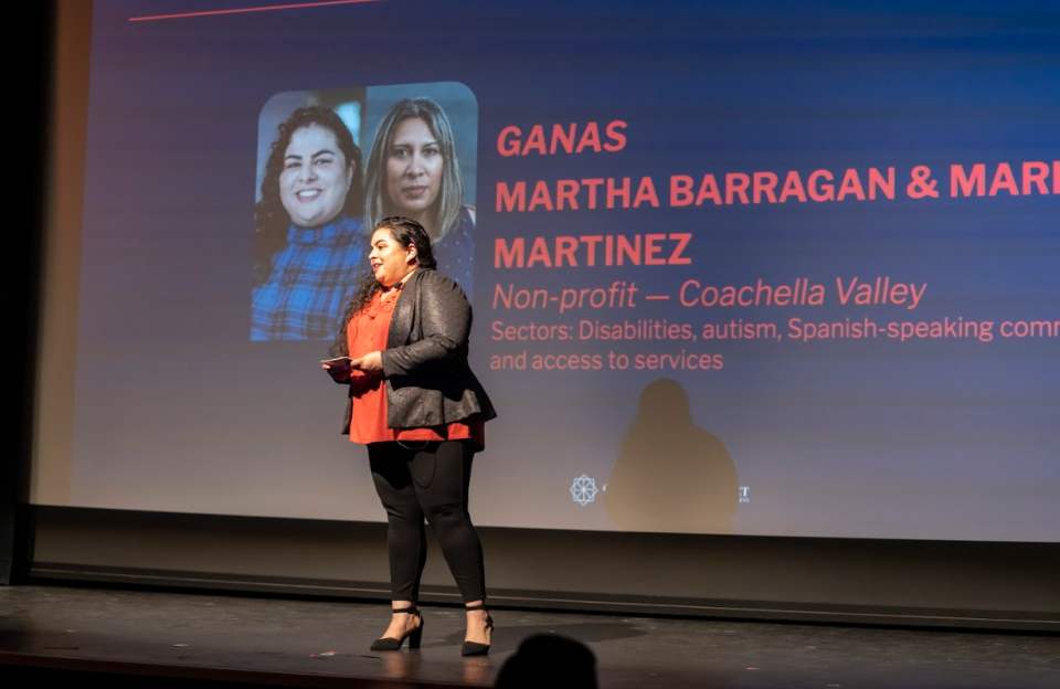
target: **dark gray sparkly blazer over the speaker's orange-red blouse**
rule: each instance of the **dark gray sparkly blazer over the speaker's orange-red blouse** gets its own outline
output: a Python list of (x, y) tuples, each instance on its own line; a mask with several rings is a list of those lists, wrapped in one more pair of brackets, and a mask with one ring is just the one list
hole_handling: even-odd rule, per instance
[[(474, 415), (483, 421), (497, 416), (467, 363), (470, 331), (471, 305), (459, 285), (431, 268), (413, 273), (398, 296), (382, 351), (388, 427), (422, 428)], [(346, 350), (346, 338), (341, 341)], [(351, 386), (343, 434), (350, 433), (352, 413)]]

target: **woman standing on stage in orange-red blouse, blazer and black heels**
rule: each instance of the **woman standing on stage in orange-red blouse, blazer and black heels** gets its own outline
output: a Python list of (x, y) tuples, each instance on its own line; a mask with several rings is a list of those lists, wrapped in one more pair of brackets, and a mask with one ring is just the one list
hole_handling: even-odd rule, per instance
[(349, 385), (344, 432), (368, 446), (388, 515), (393, 616), (372, 649), (396, 650), (406, 638), (420, 646), (426, 517), (467, 610), (462, 653), (485, 654), (494, 625), (467, 498), (471, 459), (497, 414), (467, 362), (471, 306), (435, 271), (431, 239), (416, 221), (385, 218), (371, 242), (372, 274), (347, 308), (337, 358), (324, 368)]

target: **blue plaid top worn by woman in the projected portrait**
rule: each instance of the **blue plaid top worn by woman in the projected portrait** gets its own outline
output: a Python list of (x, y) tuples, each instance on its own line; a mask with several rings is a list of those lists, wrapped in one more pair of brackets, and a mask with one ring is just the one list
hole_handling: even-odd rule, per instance
[(362, 275), (364, 223), (339, 216), (322, 227), (287, 232), (273, 272), (254, 288), (252, 340), (330, 340)]

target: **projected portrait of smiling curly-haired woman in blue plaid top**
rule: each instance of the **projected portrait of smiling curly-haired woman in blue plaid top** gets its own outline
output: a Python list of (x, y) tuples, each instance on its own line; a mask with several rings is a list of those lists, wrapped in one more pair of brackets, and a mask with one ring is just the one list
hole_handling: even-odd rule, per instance
[(329, 339), (363, 256), (361, 149), (333, 110), (278, 127), (255, 208), (252, 340)]

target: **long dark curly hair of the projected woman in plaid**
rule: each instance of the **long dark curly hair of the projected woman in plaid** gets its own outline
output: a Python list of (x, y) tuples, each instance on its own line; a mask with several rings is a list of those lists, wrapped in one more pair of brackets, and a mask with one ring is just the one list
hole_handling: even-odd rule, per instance
[(290, 215), (279, 199), (279, 176), (284, 171), (284, 156), (295, 131), (311, 126), (324, 127), (335, 135), (346, 163), (353, 166), (350, 191), (342, 204), (342, 214), (357, 218), (364, 208), (364, 171), (361, 148), (346, 123), (329, 107), (309, 105), (290, 114), (277, 127), (276, 140), (268, 149), (265, 174), (262, 179), (262, 200), (254, 206), (254, 284), (261, 285), (273, 269), (273, 256), (287, 245)]

